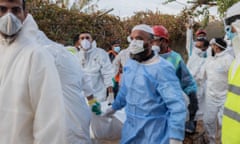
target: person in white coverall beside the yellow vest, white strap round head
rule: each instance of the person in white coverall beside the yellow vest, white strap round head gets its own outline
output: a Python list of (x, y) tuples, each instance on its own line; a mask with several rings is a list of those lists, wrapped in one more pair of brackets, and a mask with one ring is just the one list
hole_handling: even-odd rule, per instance
[(200, 79), (207, 80), (203, 121), (210, 144), (215, 144), (216, 135), (220, 135), (221, 131), (221, 119), (228, 89), (228, 70), (234, 58), (226, 49), (227, 43), (222, 38), (213, 38), (210, 45), (213, 57), (207, 59), (199, 76)]

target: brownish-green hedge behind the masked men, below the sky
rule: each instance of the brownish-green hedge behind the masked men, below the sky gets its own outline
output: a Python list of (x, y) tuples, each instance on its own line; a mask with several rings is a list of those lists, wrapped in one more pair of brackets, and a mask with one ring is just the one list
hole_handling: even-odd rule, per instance
[[(33, 3), (31, 3), (33, 4)], [(127, 36), (136, 24), (164, 25), (170, 33), (172, 41), (179, 41), (185, 37), (185, 17), (163, 15), (159, 12), (138, 12), (133, 17), (121, 20), (113, 15), (102, 14), (99, 11), (93, 14), (79, 13), (66, 10), (46, 3), (35, 3), (29, 6), (39, 28), (46, 35), (64, 45), (72, 44), (72, 38), (83, 31), (92, 33), (98, 46), (108, 50), (113, 40), (119, 39), (122, 47), (126, 48)]]

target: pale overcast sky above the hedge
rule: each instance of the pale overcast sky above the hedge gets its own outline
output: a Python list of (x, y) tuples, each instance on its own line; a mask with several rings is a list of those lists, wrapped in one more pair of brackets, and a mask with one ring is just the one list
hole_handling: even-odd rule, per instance
[[(167, 5), (162, 3), (165, 0), (99, 0), (99, 9), (111, 9), (114, 8), (110, 14), (114, 14), (120, 17), (127, 17), (134, 15), (137, 11), (160, 11), (164, 14), (179, 14), (187, 5), (187, 0), (178, 0), (178, 2), (172, 2)], [(189, 7), (189, 6), (188, 6)], [(216, 8), (211, 8), (211, 14), (216, 15)]]

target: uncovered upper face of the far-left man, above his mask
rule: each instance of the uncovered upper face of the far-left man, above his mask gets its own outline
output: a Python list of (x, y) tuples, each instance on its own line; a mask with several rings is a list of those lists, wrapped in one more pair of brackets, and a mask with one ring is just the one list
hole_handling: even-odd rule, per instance
[(22, 22), (25, 19), (22, 0), (0, 0), (0, 17), (13, 13)]

